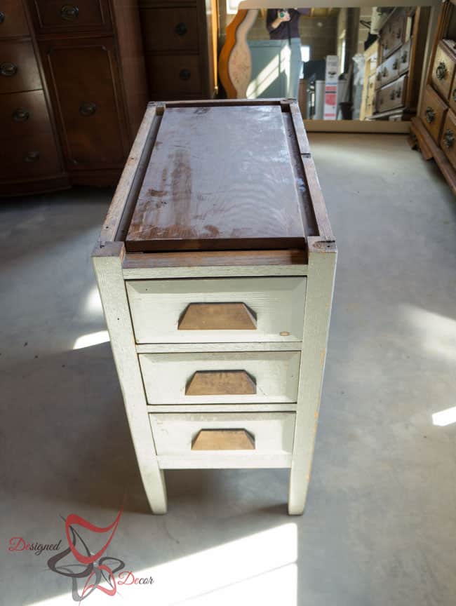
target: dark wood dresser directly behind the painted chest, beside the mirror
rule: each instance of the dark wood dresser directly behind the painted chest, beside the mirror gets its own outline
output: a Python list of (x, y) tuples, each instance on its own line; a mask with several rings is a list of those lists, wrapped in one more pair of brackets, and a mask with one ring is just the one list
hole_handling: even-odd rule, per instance
[(211, 99), (217, 86), (217, 1), (140, 0), (149, 99)]

